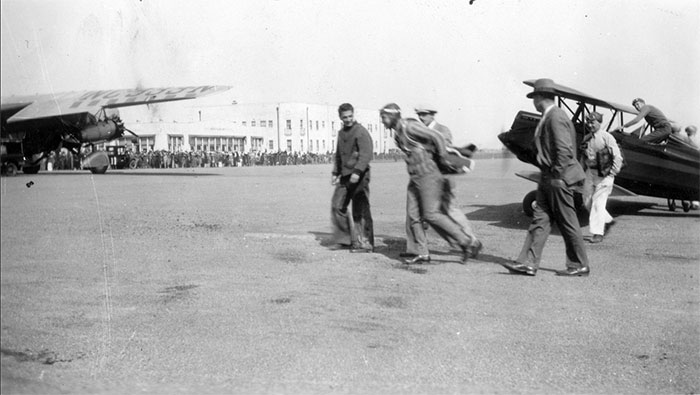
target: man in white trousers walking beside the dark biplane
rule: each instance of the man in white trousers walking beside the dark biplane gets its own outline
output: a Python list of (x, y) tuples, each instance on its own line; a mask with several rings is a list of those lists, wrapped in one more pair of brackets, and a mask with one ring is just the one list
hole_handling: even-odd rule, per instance
[(592, 234), (588, 240), (600, 243), (605, 234), (605, 225), (613, 222), (613, 217), (605, 209), (608, 196), (612, 192), (615, 176), (622, 170), (622, 153), (615, 138), (600, 125), (603, 115), (592, 112), (586, 116), (586, 131), (591, 133), (586, 143), (585, 164), (587, 189), (585, 203), (589, 211), (589, 229)]

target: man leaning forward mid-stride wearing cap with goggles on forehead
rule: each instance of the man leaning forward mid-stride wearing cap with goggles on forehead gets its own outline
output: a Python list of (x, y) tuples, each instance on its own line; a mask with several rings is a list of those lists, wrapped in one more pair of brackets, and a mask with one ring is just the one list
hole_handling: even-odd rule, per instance
[[(408, 237), (413, 237), (418, 255), (406, 263), (430, 261), (428, 241), (421, 219), (440, 236), (462, 249), (461, 263), (478, 254), (476, 240), (471, 240), (457, 222), (442, 211), (445, 195), (445, 176), (440, 166), (446, 163), (447, 151), (442, 135), (414, 119), (401, 118), (401, 109), (394, 103), (379, 111), (382, 124), (394, 130), (396, 147), (406, 154), (409, 183), (406, 199), (407, 215), (412, 218)], [(478, 248), (477, 248), (478, 247)]]

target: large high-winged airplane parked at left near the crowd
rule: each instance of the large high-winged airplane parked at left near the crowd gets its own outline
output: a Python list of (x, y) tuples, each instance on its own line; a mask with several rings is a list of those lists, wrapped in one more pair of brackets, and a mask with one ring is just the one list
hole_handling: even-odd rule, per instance
[[(120, 107), (196, 99), (228, 90), (227, 86), (191, 86), (158, 89), (119, 89), (3, 98), (3, 141), (21, 142), (22, 171), (35, 174), (51, 151), (66, 148), (81, 155), (84, 145), (136, 134), (119, 118)], [(136, 136), (138, 137), (138, 136)], [(110, 165), (104, 151), (81, 158), (82, 167), (102, 174)], [(15, 169), (16, 170), (16, 169)]]

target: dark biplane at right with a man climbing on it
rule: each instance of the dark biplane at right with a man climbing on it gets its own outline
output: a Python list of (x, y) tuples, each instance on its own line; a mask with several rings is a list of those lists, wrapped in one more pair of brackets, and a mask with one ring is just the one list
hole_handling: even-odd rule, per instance
[[(534, 86), (535, 80), (523, 81)], [(576, 129), (577, 146), (584, 139), (584, 119), (592, 111), (604, 114), (603, 128), (612, 131), (625, 165), (615, 177), (611, 196), (652, 196), (667, 199), (668, 208), (676, 209), (676, 200), (682, 202), (683, 210), (689, 211), (692, 201), (700, 200), (700, 151), (674, 135), (663, 144), (650, 144), (639, 139), (648, 125), (639, 126), (631, 133), (615, 131), (625, 123), (625, 116), (636, 116), (634, 107), (597, 99), (591, 95), (563, 85), (554, 84), (555, 102), (571, 114)], [(518, 159), (537, 166), (534, 144), (535, 129), (541, 115), (520, 111), (509, 131), (501, 133), (498, 139)], [(538, 182), (539, 171), (516, 173), (517, 176)], [(536, 191), (525, 195), (523, 211), (532, 216)], [(579, 199), (580, 200), (580, 199)]]

